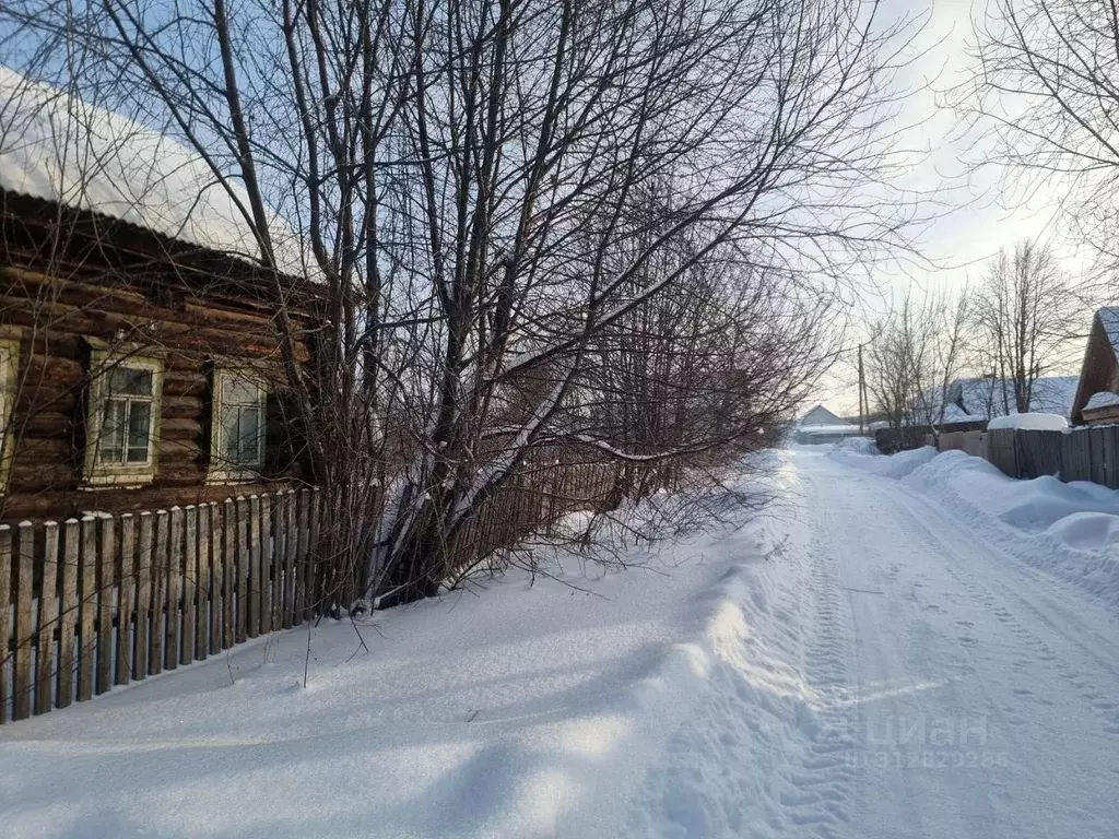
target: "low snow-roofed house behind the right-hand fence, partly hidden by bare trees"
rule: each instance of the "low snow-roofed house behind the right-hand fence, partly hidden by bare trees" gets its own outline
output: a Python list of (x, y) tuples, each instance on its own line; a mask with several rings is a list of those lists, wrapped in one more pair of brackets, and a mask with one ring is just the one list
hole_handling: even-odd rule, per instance
[[(1076, 393), (1075, 376), (1046, 376), (1034, 381), (1029, 398), (1033, 413), (1059, 414), (1069, 417)], [(927, 425), (939, 425), (943, 432), (985, 428), (996, 416), (1016, 414), (1014, 381), (994, 377), (956, 379), (946, 394), (943, 416), (940, 392), (927, 395)]]

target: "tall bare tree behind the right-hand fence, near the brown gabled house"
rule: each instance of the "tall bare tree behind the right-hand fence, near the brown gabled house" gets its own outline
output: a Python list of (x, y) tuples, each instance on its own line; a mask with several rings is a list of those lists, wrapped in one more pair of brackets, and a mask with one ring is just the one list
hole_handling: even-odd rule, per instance
[(1079, 307), (1047, 245), (999, 251), (971, 304), (976, 366), (997, 383), (997, 413), (1029, 411), (1034, 383), (1065, 360)]

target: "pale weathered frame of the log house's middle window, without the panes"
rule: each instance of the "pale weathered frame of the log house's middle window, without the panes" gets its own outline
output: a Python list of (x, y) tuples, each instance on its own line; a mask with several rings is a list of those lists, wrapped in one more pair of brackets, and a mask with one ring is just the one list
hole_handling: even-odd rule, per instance
[[(159, 464), (160, 416), (163, 404), (163, 359), (150, 348), (137, 345), (110, 346), (86, 339), (90, 351), (90, 390), (86, 406), (85, 468), (83, 489), (135, 488), (156, 480)], [(142, 463), (104, 463), (97, 458), (109, 398), (110, 374), (117, 368), (151, 373), (151, 418), (148, 424), (148, 460)]]

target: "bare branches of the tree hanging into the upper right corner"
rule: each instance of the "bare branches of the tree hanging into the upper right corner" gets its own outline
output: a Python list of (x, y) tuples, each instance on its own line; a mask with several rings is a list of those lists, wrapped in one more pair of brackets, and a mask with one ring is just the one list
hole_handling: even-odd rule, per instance
[(1057, 190), (1068, 229), (1104, 268), (1119, 258), (1117, 32), (1110, 0), (997, 0), (976, 30), (977, 72), (955, 96), (993, 136), (987, 159), (1008, 185), (1023, 197)]

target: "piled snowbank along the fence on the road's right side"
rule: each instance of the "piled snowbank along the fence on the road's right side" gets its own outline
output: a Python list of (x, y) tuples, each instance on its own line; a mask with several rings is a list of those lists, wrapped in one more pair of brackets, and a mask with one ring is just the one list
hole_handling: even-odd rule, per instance
[[(901, 478), (975, 528), (979, 538), (1119, 605), (1119, 491), (1050, 475), (1015, 480), (960, 451), (916, 452), (928, 452), (916, 468), (911, 468), (916, 453), (902, 452), (877, 459), (897, 461), (893, 469), (875, 462), (867, 471)], [(847, 463), (863, 468), (869, 460)]]

